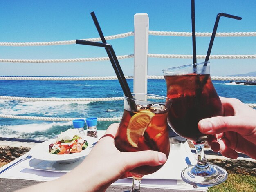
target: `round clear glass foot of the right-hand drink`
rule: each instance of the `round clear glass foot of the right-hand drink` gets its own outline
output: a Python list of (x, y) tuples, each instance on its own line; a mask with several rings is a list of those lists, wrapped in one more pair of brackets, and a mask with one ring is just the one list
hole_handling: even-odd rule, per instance
[(227, 171), (216, 165), (200, 169), (195, 165), (186, 167), (181, 173), (182, 180), (193, 186), (211, 187), (227, 179)]

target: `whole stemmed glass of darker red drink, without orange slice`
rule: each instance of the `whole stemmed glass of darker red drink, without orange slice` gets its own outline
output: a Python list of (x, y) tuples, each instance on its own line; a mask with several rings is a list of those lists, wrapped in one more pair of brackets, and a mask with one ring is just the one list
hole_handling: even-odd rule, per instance
[[(195, 67), (194, 67), (195, 66)], [(193, 142), (197, 164), (185, 168), (182, 179), (191, 185), (213, 186), (227, 179), (227, 172), (209, 165), (204, 156), (208, 137), (198, 130), (201, 119), (223, 115), (223, 106), (211, 82), (209, 62), (163, 70), (167, 97), (172, 100), (168, 123), (175, 133)]]

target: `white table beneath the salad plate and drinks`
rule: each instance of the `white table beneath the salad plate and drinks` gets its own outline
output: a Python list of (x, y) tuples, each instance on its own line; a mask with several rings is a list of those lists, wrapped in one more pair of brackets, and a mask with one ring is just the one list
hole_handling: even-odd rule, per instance
[[(103, 133), (104, 131), (98, 131), (99, 136), (103, 135)], [(25, 154), (3, 166), (0, 168), (0, 172), (27, 155)], [(180, 172), (187, 166), (185, 158), (189, 158), (192, 164), (195, 163), (195, 158), (188, 143), (181, 144), (180, 150), (171, 150), (166, 164), (160, 170), (144, 176), (141, 182), (141, 192), (207, 191), (207, 188), (193, 188), (193, 186), (182, 181)], [(62, 165), (52, 161), (42, 161), (34, 158), (26, 159), (0, 174), (0, 191), (12, 192), (36, 183), (57, 179), (79, 165), (81, 161), (83, 161), (82, 158), (74, 163)], [(131, 186), (132, 178), (119, 179), (110, 185), (107, 192), (130, 190)]]

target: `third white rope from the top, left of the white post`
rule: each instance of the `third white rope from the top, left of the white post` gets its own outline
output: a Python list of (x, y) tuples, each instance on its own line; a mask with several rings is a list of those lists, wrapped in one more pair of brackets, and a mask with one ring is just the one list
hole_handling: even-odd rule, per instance
[[(126, 79), (132, 79), (133, 76), (124, 76)], [(107, 77), (5, 77), (0, 76), (0, 80), (59, 80), (59, 81), (78, 81), (78, 80), (117, 80), (117, 76)]]

